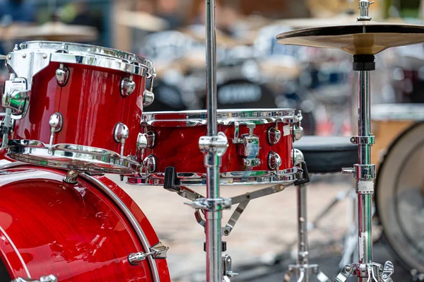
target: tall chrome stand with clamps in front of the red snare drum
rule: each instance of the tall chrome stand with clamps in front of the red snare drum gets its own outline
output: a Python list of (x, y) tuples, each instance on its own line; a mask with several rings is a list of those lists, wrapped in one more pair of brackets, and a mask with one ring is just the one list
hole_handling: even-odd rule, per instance
[[(206, 105), (208, 136), (199, 139), (199, 148), (204, 153), (206, 167), (206, 199), (196, 199), (196, 203), (206, 217), (206, 281), (230, 281), (223, 274), (223, 260), (230, 261), (222, 256), (221, 218), (222, 211), (230, 208), (230, 199), (220, 198), (219, 168), (220, 157), (227, 151), (228, 139), (225, 134), (218, 133), (217, 125), (217, 86), (216, 86), (216, 16), (215, 0), (205, 0), (206, 4)], [(223, 280), (225, 279), (225, 280)]]

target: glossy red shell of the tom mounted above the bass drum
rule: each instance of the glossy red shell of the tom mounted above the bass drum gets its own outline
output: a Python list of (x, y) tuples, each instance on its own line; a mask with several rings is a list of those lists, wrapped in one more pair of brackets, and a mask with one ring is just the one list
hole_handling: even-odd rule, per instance
[(49, 143), (49, 117), (60, 112), (64, 118), (61, 131), (54, 134), (53, 143), (70, 143), (104, 148), (120, 153), (120, 143), (114, 141), (117, 122), (126, 124), (124, 155), (136, 154), (143, 91), (146, 77), (135, 76), (136, 89), (127, 96), (120, 93), (120, 82), (129, 74), (81, 64), (64, 64), (69, 68), (66, 86), (57, 84), (55, 72), (59, 63), (51, 63), (33, 77), (30, 106), (25, 117), (16, 122), (13, 139), (32, 139)]

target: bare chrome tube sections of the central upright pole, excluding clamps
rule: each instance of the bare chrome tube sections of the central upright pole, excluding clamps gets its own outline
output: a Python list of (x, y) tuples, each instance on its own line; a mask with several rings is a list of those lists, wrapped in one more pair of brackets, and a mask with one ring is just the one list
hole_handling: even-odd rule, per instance
[[(216, 136), (216, 16), (215, 0), (206, 0), (206, 105), (208, 112), (208, 136)], [(216, 151), (205, 155), (208, 180), (206, 182), (208, 199), (218, 199), (220, 158)], [(206, 211), (206, 281), (221, 282), (221, 217), (222, 211)]]

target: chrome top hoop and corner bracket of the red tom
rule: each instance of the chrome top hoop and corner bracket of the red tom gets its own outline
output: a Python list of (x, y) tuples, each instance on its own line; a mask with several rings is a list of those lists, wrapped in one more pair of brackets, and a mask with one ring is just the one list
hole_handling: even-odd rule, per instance
[(10, 66), (18, 77), (26, 78), (29, 86), (32, 77), (45, 69), (50, 62), (95, 66), (147, 78), (155, 76), (151, 61), (117, 49), (49, 41), (23, 42), (20, 48), (13, 49), (6, 56), (6, 65)]

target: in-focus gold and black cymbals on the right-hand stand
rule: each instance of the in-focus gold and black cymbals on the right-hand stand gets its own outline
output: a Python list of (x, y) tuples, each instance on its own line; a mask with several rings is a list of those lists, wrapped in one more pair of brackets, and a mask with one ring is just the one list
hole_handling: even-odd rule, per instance
[(293, 30), (277, 35), (277, 40), (285, 45), (342, 49), (353, 55), (377, 54), (390, 47), (424, 42), (424, 25), (360, 20), (348, 25)]

